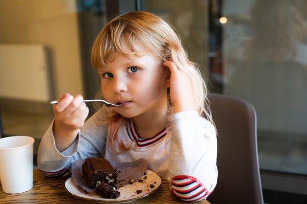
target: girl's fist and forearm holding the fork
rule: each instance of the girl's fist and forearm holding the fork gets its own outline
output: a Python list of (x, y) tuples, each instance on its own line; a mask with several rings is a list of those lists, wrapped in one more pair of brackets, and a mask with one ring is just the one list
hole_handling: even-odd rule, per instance
[(60, 152), (74, 142), (78, 129), (83, 126), (88, 115), (88, 107), (82, 100), (81, 95), (76, 95), (74, 98), (65, 93), (60, 101), (52, 106), (55, 114), (52, 131), (55, 145)]

